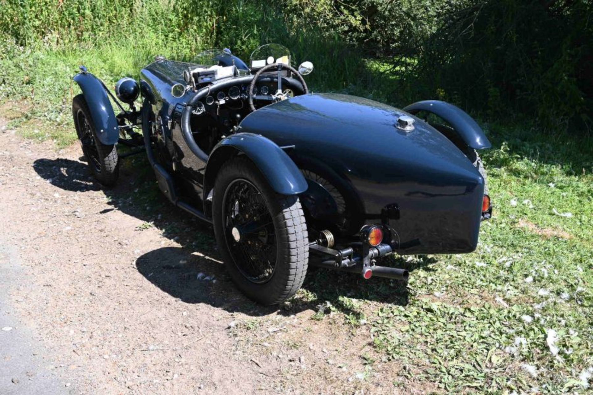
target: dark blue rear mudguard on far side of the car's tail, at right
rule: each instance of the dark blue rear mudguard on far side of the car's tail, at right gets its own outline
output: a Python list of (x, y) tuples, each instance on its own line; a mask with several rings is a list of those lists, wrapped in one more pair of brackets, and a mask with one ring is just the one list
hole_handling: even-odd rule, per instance
[(459, 137), (473, 149), (492, 147), (482, 128), (461, 108), (439, 100), (417, 101), (403, 108), (404, 111), (416, 115), (426, 111), (441, 117), (457, 132)]

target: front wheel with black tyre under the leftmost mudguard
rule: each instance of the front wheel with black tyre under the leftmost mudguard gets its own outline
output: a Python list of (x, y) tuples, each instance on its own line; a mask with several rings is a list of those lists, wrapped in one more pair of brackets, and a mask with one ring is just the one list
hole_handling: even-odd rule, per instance
[(93, 117), (88, 110), (84, 95), (76, 95), (72, 99), (72, 117), (78, 141), (87, 159), (88, 168), (97, 181), (105, 187), (111, 187), (119, 176), (119, 160), (115, 144), (105, 145), (97, 139), (97, 131), (93, 124)]

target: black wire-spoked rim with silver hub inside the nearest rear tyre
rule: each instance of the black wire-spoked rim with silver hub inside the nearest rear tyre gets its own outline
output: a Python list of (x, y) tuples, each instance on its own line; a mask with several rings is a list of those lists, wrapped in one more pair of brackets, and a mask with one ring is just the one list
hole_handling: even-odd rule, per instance
[(257, 188), (246, 179), (235, 179), (225, 191), (225, 239), (235, 265), (251, 282), (272, 278), (278, 251), (272, 214)]

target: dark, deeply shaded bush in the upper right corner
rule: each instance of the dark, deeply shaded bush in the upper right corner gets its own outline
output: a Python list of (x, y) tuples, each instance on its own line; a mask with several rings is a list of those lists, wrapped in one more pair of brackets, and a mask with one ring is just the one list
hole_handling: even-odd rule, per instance
[(426, 41), (408, 91), (444, 95), (490, 118), (518, 112), (549, 129), (591, 123), (588, 1), (474, 1)]

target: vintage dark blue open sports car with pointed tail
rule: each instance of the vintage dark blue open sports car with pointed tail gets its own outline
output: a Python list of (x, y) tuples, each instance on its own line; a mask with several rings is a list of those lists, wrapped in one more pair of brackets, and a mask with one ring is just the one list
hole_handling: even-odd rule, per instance
[[(477, 123), (442, 101), (398, 110), (314, 94), (312, 70), (278, 44), (248, 65), (228, 49), (160, 56), (140, 81), (117, 82), (118, 101), (81, 66), (76, 133), (106, 187), (120, 159), (146, 152), (162, 193), (212, 223), (232, 280), (259, 303), (291, 297), (308, 266), (407, 280), (379, 259), (474, 251), (492, 213)], [(117, 144), (135, 148), (118, 155)]]

